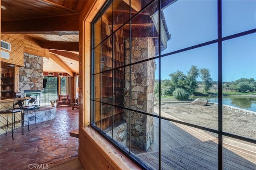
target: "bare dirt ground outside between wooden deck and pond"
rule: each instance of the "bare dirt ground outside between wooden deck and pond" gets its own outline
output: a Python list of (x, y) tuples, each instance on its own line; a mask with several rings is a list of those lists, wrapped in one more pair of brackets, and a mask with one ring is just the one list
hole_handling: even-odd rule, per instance
[[(155, 108), (158, 108), (158, 105)], [(162, 103), (161, 111), (184, 122), (218, 130), (218, 105), (197, 106), (187, 103)], [(256, 115), (244, 115), (223, 109), (223, 131), (256, 139)], [(217, 137), (217, 134), (209, 133)]]

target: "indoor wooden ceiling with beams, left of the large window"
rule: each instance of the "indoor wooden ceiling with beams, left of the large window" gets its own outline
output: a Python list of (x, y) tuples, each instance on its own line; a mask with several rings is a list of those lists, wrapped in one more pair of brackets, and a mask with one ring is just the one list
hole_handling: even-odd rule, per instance
[(50, 50), (43, 71), (78, 73), (79, 0), (1, 0), (2, 34), (24, 34)]

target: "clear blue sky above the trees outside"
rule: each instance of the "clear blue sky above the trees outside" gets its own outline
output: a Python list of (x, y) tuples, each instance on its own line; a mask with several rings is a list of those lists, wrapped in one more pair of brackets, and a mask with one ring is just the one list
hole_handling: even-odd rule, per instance
[[(255, 0), (224, 1), (222, 9), (223, 37), (256, 28)], [(164, 16), (171, 40), (162, 54), (217, 39), (216, 1), (177, 1), (164, 9)], [(234, 81), (242, 77), (256, 79), (256, 33), (224, 41), (222, 49), (223, 81)], [(217, 57), (217, 44), (162, 57), (161, 79), (170, 79), (168, 74), (177, 70), (187, 74), (191, 66), (196, 65), (199, 69), (209, 69), (212, 79), (217, 81)]]

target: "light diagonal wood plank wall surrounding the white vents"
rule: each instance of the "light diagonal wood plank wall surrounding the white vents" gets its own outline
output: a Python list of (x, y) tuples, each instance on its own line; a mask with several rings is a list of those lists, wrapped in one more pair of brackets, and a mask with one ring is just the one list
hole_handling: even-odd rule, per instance
[(1, 61), (14, 65), (24, 65), (24, 35), (1, 34), (1, 40), (11, 44), (11, 51), (1, 49), (10, 53), (10, 59), (1, 58)]

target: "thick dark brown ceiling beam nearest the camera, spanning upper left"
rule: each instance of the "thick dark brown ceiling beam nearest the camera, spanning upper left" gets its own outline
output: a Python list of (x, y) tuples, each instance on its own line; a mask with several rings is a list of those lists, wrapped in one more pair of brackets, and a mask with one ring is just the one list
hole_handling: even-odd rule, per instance
[(42, 32), (78, 32), (79, 14), (2, 21), (2, 34), (42, 34)]

